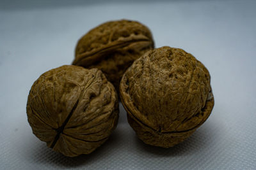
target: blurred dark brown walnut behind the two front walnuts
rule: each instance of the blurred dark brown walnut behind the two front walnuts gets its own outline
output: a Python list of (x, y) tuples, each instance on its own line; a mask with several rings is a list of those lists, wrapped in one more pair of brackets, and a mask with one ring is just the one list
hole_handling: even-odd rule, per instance
[(152, 48), (152, 34), (145, 25), (130, 20), (106, 22), (79, 39), (73, 64), (101, 69), (118, 91), (126, 69)]

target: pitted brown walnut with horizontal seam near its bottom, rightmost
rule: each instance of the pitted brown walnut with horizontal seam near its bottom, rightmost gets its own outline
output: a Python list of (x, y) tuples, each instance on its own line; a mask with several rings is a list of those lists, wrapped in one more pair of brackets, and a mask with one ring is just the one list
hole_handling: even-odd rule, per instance
[(163, 46), (135, 60), (120, 82), (128, 122), (149, 145), (188, 138), (211, 114), (210, 74), (190, 53)]

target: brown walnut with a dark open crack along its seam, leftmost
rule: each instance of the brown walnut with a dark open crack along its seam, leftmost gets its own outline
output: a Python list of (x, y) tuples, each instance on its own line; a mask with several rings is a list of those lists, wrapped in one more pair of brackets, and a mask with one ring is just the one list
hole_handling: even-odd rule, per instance
[(115, 88), (99, 69), (61, 66), (42, 74), (28, 96), (28, 122), (37, 138), (68, 157), (93, 152), (115, 129)]

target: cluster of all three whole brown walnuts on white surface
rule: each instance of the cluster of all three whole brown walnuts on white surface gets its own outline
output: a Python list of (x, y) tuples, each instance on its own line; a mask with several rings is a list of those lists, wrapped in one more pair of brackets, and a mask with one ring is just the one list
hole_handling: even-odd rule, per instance
[(140, 22), (95, 27), (79, 39), (72, 64), (42, 74), (27, 103), (35, 136), (67, 157), (92, 153), (109, 138), (118, 97), (138, 138), (164, 148), (191, 136), (214, 106), (206, 67), (180, 48), (154, 49)]

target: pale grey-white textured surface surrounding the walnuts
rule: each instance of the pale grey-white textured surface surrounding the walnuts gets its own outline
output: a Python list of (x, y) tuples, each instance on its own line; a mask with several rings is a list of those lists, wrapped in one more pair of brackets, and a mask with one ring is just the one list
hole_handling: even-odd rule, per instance
[[(0, 169), (256, 169), (255, 1), (76, 2), (0, 2)], [(72, 62), (85, 32), (120, 18), (148, 25), (157, 47), (183, 48), (205, 64), (212, 115), (184, 143), (163, 149), (136, 138), (120, 104), (116, 131), (91, 155), (54, 153), (29, 127), (29, 89)]]

